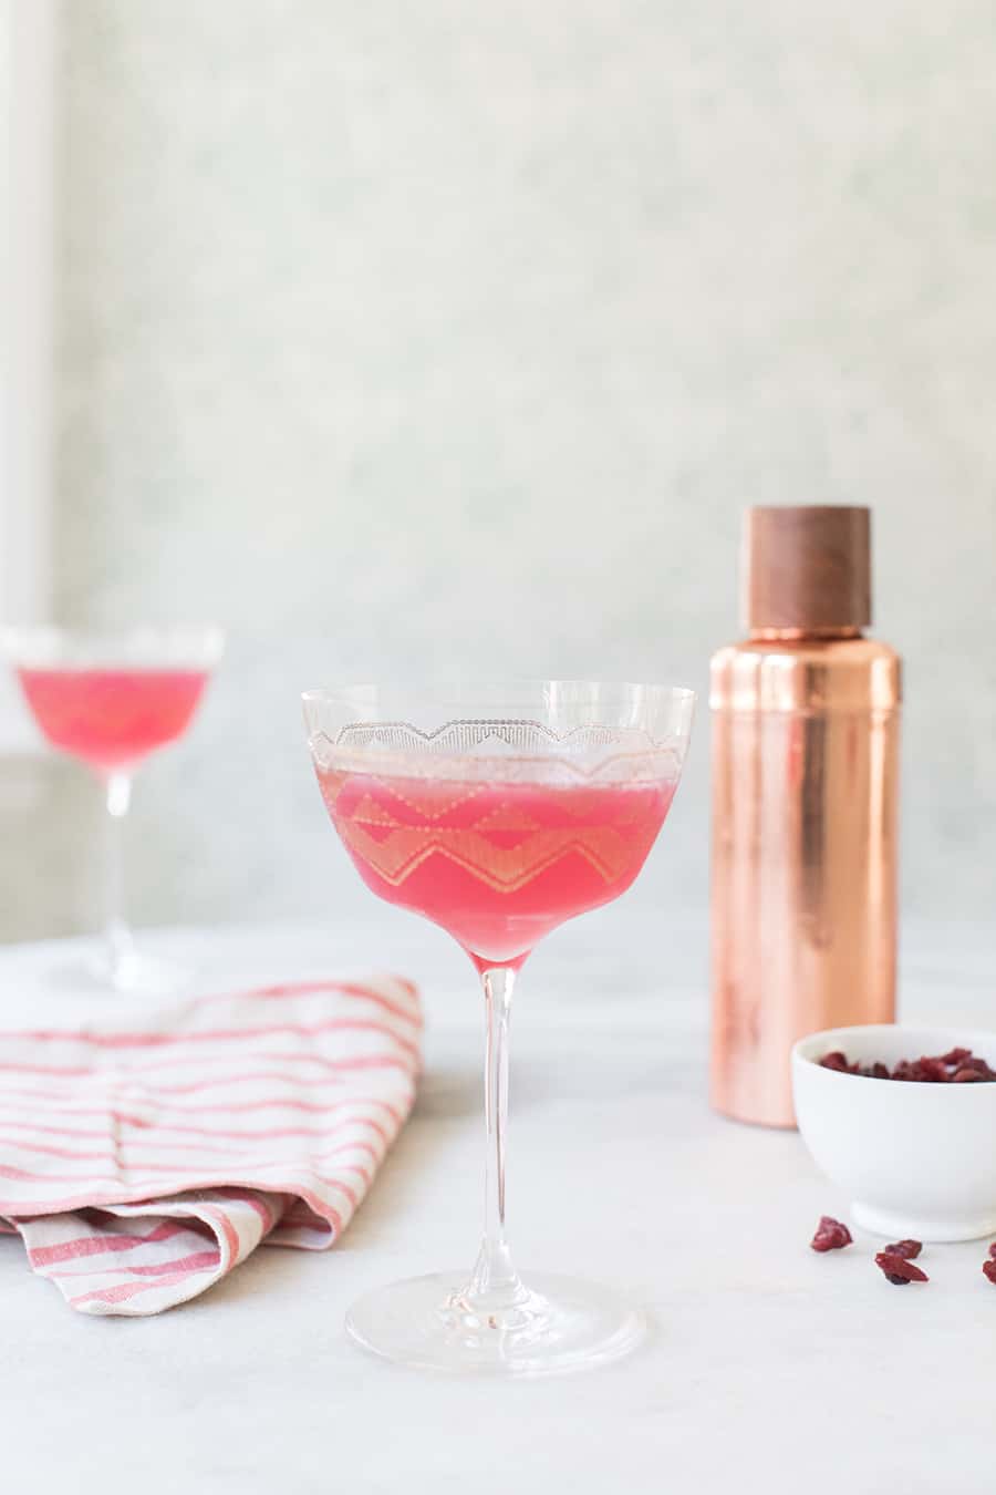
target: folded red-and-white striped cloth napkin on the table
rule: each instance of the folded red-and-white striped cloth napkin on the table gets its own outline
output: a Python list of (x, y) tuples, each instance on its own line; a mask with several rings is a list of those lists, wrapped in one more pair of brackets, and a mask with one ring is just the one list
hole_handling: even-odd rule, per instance
[(263, 1241), (330, 1247), (411, 1111), (420, 1042), (397, 976), (0, 1033), (0, 1229), (90, 1314), (172, 1308)]

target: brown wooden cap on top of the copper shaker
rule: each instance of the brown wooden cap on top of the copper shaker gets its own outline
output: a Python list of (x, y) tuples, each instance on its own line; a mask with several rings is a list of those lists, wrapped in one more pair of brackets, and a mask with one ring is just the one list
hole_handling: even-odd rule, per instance
[(868, 508), (751, 508), (745, 540), (748, 628), (809, 632), (871, 623)]

